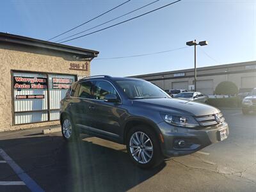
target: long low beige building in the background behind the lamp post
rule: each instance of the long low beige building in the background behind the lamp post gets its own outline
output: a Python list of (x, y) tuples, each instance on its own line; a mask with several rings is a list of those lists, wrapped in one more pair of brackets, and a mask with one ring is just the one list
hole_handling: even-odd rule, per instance
[[(197, 68), (196, 91), (212, 95), (222, 81), (232, 81), (239, 92), (256, 87), (256, 61)], [(133, 76), (150, 81), (163, 90), (193, 90), (194, 68)]]

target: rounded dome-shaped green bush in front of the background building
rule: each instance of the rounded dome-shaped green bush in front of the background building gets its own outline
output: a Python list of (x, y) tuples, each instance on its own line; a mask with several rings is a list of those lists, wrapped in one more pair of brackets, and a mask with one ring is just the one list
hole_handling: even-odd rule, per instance
[(236, 84), (230, 81), (223, 81), (216, 86), (216, 95), (236, 95), (238, 93), (238, 88)]

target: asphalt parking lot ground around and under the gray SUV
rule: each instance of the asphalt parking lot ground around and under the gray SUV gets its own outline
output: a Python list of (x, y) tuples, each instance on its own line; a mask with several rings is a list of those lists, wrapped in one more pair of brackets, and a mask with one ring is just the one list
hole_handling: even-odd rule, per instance
[[(42, 128), (0, 133), (0, 191), (255, 191), (256, 118), (223, 109), (227, 140), (152, 170), (124, 145), (81, 135), (65, 143)], [(6, 161), (7, 160), (7, 161)]]

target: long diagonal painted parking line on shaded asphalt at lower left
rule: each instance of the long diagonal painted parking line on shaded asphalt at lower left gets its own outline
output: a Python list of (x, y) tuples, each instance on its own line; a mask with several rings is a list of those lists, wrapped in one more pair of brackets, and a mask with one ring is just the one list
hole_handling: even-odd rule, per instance
[(22, 168), (20, 168), (20, 166), (16, 164), (10, 156), (8, 156), (2, 148), (0, 148), (0, 156), (9, 164), (10, 167), (12, 167), (13, 171), (31, 191), (44, 192), (44, 190), (36, 184), (35, 180), (31, 179), (31, 177), (29, 177), (29, 175), (24, 172), (24, 170), (22, 170)]

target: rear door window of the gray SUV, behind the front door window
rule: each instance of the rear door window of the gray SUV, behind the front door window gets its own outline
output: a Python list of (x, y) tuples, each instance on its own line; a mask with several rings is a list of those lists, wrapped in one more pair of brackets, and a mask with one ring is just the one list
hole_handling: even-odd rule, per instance
[(80, 84), (80, 88), (79, 88), (78, 97), (81, 97), (84, 99), (96, 99), (95, 98), (96, 89), (92, 81), (84, 81), (79, 84)]

